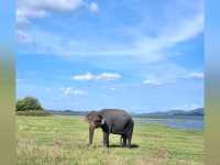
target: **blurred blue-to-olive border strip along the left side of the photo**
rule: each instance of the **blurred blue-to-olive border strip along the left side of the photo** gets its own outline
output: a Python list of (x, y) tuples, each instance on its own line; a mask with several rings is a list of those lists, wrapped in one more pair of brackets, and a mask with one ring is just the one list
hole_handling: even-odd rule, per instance
[(0, 0), (0, 165), (15, 164), (15, 0)]

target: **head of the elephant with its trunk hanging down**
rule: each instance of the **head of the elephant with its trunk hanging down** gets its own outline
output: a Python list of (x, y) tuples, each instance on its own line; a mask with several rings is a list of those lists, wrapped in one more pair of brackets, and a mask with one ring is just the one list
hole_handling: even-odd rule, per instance
[(86, 121), (89, 123), (89, 145), (92, 144), (94, 131), (105, 124), (105, 119), (100, 112), (91, 111), (86, 116)]

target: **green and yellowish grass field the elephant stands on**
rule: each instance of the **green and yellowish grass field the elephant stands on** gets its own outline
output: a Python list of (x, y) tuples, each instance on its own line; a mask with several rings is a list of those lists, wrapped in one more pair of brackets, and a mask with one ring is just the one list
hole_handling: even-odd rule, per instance
[(101, 130), (88, 143), (82, 117), (16, 117), (18, 165), (202, 165), (204, 133), (154, 124), (136, 124), (132, 148), (119, 136), (102, 147)]

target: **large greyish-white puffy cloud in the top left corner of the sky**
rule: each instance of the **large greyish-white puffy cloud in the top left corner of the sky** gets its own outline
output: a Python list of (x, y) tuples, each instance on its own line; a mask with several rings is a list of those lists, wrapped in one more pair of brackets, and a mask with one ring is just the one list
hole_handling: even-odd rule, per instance
[[(72, 12), (81, 7), (88, 8), (91, 12), (97, 12), (99, 10), (97, 3), (91, 2), (91, 4), (87, 4), (85, 0), (18, 0), (18, 31), (26, 33), (26, 26), (32, 24), (32, 19), (43, 19), (51, 15), (53, 12)], [(23, 43), (20, 36), (18, 40)]]

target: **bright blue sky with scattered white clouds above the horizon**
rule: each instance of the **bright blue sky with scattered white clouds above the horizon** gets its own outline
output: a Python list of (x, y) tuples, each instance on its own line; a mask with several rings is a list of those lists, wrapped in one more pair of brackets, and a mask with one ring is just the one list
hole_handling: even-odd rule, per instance
[(204, 107), (204, 0), (18, 0), (16, 96), (54, 110)]

